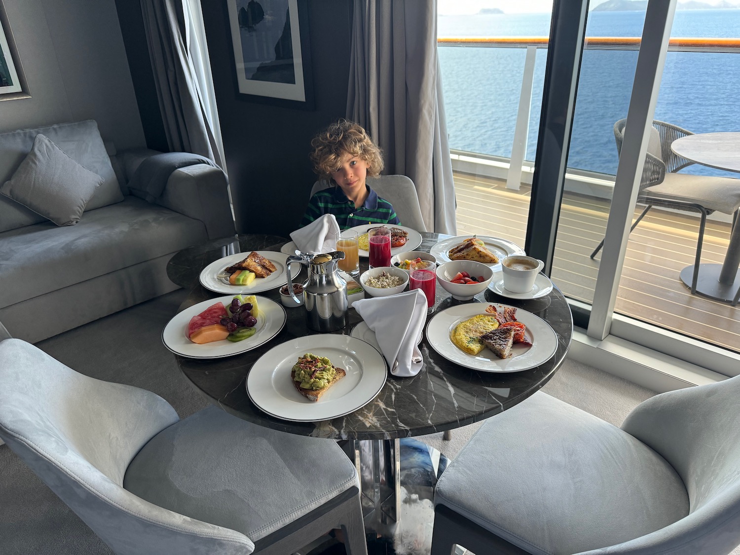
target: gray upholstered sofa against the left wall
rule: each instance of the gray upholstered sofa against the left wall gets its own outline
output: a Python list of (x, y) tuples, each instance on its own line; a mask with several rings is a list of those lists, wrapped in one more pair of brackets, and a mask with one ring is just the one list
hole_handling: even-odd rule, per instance
[[(25, 182), (27, 197), (8, 196), (19, 189), (21, 169), (35, 163), (44, 173), (43, 158), (30, 160), (41, 139), (75, 166), (53, 169), (50, 181), (75, 195), (78, 179), (84, 194), (76, 223), (50, 221), (36, 203), (54, 212), (58, 201), (33, 179)], [(0, 134), (0, 321), (13, 337), (35, 343), (177, 289), (166, 275), (172, 255), (234, 235), (226, 176), (217, 167), (175, 169), (157, 198), (130, 194), (129, 180), (155, 154), (116, 152), (92, 120)], [(90, 178), (94, 194), (86, 200)]]

